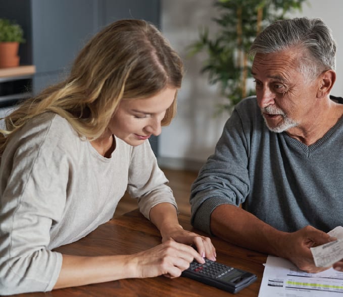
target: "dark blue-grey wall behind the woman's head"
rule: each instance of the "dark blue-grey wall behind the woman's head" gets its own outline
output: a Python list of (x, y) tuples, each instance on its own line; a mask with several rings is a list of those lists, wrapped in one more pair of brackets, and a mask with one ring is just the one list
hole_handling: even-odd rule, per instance
[[(63, 79), (77, 52), (102, 27), (119, 19), (144, 19), (159, 27), (160, 0), (0, 0), (0, 18), (22, 25), (21, 65), (35, 65), (36, 94)], [(157, 140), (152, 140), (157, 154)]]

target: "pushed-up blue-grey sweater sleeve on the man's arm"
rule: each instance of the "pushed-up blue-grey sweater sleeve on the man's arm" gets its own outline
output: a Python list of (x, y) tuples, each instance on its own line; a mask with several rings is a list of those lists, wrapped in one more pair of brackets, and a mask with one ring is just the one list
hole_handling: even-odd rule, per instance
[(212, 211), (221, 204), (239, 206), (246, 199), (250, 184), (248, 173), (249, 139), (235, 109), (211, 155), (191, 186), (191, 223), (211, 233)]

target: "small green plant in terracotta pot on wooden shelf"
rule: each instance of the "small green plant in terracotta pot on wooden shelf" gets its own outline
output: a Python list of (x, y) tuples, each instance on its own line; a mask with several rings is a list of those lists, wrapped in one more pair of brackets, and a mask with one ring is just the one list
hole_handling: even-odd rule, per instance
[(24, 42), (22, 27), (8, 19), (0, 19), (0, 68), (18, 67), (19, 43)]

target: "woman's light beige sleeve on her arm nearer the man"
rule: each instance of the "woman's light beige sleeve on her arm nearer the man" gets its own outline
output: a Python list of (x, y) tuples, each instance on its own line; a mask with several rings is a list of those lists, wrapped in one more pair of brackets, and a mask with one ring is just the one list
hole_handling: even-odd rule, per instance
[(166, 176), (157, 164), (156, 157), (149, 141), (132, 149), (128, 192), (138, 198), (140, 212), (149, 219), (150, 210), (157, 204), (168, 202), (175, 206), (175, 198), (167, 186)]

